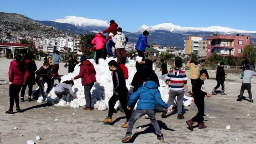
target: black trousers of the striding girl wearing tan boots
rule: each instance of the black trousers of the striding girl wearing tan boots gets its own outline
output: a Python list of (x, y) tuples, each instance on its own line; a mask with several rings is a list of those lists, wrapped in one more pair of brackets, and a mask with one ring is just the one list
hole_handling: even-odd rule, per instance
[(116, 101), (120, 101), (122, 107), (124, 108), (126, 121), (128, 122), (131, 118), (132, 113), (127, 109), (127, 94), (128, 89), (125, 87), (118, 95), (116, 93), (109, 99), (108, 101), (108, 117), (112, 118), (113, 111), (114, 111), (114, 103)]

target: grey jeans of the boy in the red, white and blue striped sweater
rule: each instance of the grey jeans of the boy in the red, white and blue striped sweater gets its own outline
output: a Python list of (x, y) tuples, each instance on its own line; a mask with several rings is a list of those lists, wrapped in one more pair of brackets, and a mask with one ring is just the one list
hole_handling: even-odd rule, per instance
[(183, 98), (184, 98), (184, 90), (181, 91), (171, 91), (169, 94), (169, 99), (167, 101), (167, 105), (171, 106), (172, 102), (174, 102), (175, 97), (177, 96), (177, 109), (178, 109), (178, 114), (182, 114), (182, 103), (183, 103)]

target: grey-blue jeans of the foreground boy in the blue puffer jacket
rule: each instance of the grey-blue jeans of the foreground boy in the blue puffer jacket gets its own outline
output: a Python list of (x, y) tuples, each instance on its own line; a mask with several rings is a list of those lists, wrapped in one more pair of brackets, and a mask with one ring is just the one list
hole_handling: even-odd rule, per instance
[(128, 123), (128, 128), (127, 128), (127, 132), (132, 132), (132, 128), (134, 123), (141, 118), (143, 115), (147, 114), (150, 118), (150, 121), (152, 123), (152, 125), (155, 128), (155, 133), (157, 135), (162, 134), (161, 129), (157, 123), (157, 120), (155, 119), (155, 110), (153, 109), (141, 109), (141, 110), (136, 110), (133, 114), (132, 117), (129, 119), (129, 123)]

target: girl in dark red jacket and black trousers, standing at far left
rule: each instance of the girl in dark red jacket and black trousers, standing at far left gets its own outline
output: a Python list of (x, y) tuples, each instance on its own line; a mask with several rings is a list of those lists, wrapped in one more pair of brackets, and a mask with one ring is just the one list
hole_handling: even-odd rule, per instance
[(22, 56), (17, 54), (15, 60), (10, 63), (9, 68), (9, 93), (10, 93), (10, 108), (7, 114), (13, 114), (14, 100), (16, 103), (16, 110), (22, 112), (19, 105), (19, 93), (22, 85), (26, 83), (29, 71), (26, 69), (24, 62), (22, 62)]

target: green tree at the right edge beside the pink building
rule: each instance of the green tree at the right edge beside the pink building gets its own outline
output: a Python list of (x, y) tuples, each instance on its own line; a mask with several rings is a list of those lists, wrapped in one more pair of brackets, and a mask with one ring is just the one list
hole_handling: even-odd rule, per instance
[(256, 49), (253, 45), (246, 45), (243, 51), (243, 61), (248, 61), (249, 64), (255, 62)]

